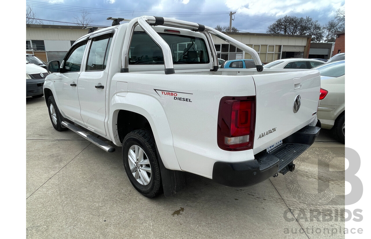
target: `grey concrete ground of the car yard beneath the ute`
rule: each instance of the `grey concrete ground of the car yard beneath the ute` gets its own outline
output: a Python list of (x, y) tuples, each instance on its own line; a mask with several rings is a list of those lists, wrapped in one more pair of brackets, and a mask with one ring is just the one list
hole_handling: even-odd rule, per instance
[(345, 238), (344, 145), (321, 130), (294, 163), (245, 188), (187, 174), (179, 193), (148, 199), (120, 147), (56, 131), (44, 97), (26, 98), (26, 238)]

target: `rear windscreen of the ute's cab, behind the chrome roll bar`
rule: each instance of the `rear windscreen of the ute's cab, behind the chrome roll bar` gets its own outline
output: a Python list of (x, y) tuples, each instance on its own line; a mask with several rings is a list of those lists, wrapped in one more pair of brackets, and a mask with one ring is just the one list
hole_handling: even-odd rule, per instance
[[(173, 64), (205, 64), (210, 62), (203, 39), (165, 33), (159, 33), (159, 35), (170, 46)], [(145, 32), (134, 32), (129, 57), (129, 64), (164, 64), (161, 48)]]

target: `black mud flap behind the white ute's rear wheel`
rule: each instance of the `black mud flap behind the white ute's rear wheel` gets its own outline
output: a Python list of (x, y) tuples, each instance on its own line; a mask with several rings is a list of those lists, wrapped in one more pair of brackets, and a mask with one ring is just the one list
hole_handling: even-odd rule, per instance
[(185, 173), (183, 171), (167, 169), (164, 166), (164, 163), (162, 163), (162, 159), (160, 153), (158, 153), (157, 146), (156, 153), (158, 164), (160, 165), (162, 188), (164, 189), (165, 197), (168, 197), (179, 192), (185, 187)]

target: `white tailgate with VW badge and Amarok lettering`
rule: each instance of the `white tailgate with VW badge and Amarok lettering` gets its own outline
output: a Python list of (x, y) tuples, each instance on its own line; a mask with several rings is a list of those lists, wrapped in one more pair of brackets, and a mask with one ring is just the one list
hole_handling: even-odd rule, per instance
[(318, 70), (305, 70), (253, 75), (253, 79), (256, 87), (253, 151), (256, 154), (315, 119), (321, 78)]

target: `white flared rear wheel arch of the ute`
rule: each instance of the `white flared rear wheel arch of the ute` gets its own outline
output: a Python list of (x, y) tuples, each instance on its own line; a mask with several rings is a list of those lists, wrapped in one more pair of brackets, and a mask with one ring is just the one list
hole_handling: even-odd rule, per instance
[(122, 139), (132, 130), (151, 130), (162, 162), (167, 169), (181, 170), (173, 146), (173, 135), (166, 114), (157, 99), (143, 94), (113, 96), (108, 125), (112, 142), (122, 146)]

